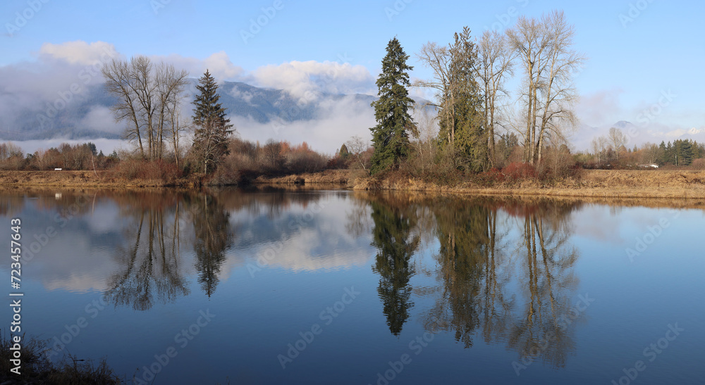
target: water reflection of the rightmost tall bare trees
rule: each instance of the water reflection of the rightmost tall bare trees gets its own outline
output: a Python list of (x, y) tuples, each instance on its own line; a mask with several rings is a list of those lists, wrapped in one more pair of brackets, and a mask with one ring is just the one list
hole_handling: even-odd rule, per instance
[[(523, 317), (510, 330), (509, 346), (521, 358), (543, 358), (554, 367), (564, 367), (575, 351), (570, 298), (577, 286), (572, 267), (577, 250), (569, 244), (568, 214), (574, 205), (524, 206), (520, 208), (522, 236), (517, 248), (520, 286), (524, 288)], [(523, 261), (523, 263), (521, 263)]]

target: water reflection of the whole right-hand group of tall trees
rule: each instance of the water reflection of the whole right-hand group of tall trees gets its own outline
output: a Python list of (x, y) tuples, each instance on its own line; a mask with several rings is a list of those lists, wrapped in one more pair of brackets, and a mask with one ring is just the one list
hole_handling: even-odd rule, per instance
[[(392, 334), (409, 318), (412, 254), (419, 237), (433, 232), (438, 246), (429, 275), (436, 284), (414, 291), (433, 303), (419, 309), (425, 329), (453, 333), (465, 348), (482, 338), (505, 343), (522, 359), (565, 365), (575, 351), (570, 305), (578, 282), (569, 217), (580, 203), (355, 196), (372, 206), (374, 271)], [(434, 224), (422, 226), (419, 213)]]

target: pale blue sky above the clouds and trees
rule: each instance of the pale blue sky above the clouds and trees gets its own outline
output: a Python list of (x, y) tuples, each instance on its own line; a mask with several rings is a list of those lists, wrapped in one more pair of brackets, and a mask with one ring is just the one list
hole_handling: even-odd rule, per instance
[[(410, 55), (412, 80), (428, 79), (431, 71), (415, 57), (422, 44), (447, 44), (466, 25), (475, 37), (504, 31), (520, 15), (538, 18), (552, 10), (565, 12), (575, 26), (573, 48), (587, 57), (575, 77), (581, 98), (575, 109), (582, 125), (598, 129), (577, 132), (576, 143), (585, 146), (587, 135), (620, 120), (637, 126), (630, 138), (635, 143), (705, 131), (705, 39), (699, 33), (705, 4), (699, 1), (5, 0), (0, 75), (54, 73), (50, 68), (90, 65), (110, 53), (161, 58), (193, 77), (209, 68), (219, 80), (293, 94), (316, 87), (376, 94), (374, 81), (393, 37)], [(317, 82), (321, 77), (325, 81)], [(0, 89), (8, 82), (0, 77)], [(432, 98), (419, 89), (412, 96)]]

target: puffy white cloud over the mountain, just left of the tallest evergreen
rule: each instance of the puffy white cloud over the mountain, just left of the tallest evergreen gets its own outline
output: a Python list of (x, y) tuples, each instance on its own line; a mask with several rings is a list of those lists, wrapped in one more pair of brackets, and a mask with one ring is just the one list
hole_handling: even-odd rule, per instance
[(265, 65), (253, 72), (260, 87), (284, 89), (300, 101), (315, 101), (321, 93), (370, 93), (374, 77), (362, 65), (333, 61), (290, 61)]

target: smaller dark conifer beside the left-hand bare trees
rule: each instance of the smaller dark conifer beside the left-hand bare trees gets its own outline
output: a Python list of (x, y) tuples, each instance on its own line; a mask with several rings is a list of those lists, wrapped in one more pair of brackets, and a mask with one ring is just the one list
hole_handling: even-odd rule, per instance
[(193, 101), (196, 108), (192, 116), (195, 125), (192, 151), (207, 173), (215, 170), (228, 155), (228, 135), (234, 130), (230, 119), (226, 118), (225, 108), (218, 103), (218, 84), (210, 72), (206, 70), (198, 82), (196, 89), (200, 95)]

